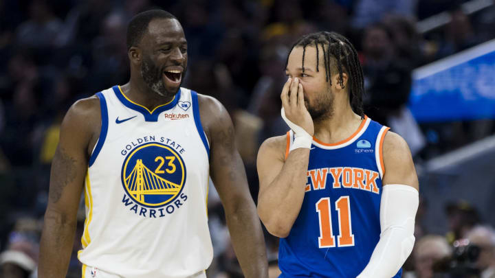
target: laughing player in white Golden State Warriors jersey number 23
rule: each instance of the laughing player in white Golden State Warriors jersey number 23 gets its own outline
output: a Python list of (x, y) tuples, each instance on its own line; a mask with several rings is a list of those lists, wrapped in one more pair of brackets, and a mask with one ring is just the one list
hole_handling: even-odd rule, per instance
[(67, 112), (52, 163), (40, 278), (65, 277), (83, 192), (83, 277), (206, 277), (210, 174), (245, 277), (267, 277), (232, 121), (214, 98), (180, 87), (187, 46), (172, 14), (137, 14), (127, 30), (129, 83)]

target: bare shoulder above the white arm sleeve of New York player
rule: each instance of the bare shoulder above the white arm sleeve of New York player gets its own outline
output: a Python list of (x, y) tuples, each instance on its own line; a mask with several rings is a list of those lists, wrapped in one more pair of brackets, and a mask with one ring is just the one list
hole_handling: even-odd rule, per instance
[(419, 189), (416, 169), (406, 140), (387, 132), (383, 144), (384, 185), (401, 184)]

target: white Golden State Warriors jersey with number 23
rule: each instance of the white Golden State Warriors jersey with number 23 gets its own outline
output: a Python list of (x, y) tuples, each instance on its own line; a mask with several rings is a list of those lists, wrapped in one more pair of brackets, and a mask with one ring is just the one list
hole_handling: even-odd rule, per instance
[(181, 88), (153, 111), (119, 86), (96, 95), (102, 128), (85, 181), (80, 262), (126, 278), (201, 274), (213, 250), (197, 93)]

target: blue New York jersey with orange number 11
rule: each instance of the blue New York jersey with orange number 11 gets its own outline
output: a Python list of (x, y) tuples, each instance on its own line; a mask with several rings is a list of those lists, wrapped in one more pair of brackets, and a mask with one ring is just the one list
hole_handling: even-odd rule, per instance
[[(305, 198), (287, 238), (281, 238), (280, 277), (358, 276), (380, 240), (382, 143), (388, 128), (368, 117), (349, 139), (314, 139)], [(294, 139), (287, 132), (287, 151)], [(395, 277), (401, 276), (401, 270)]]

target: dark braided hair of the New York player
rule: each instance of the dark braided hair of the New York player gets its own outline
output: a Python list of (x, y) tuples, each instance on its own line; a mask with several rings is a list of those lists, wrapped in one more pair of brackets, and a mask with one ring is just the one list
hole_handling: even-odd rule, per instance
[[(358, 58), (358, 52), (353, 45), (341, 34), (336, 32), (316, 32), (303, 36), (292, 45), (289, 55), (294, 47), (303, 47), (303, 73), (305, 71), (305, 53), (307, 46), (316, 47), (316, 71), (319, 71), (320, 62), (320, 50), (318, 45), (321, 45), (323, 49), (323, 61), (325, 63), (325, 80), (330, 82), (331, 85), (331, 73), (338, 71), (340, 86), (342, 89), (344, 86), (344, 80), (342, 73), (346, 72), (349, 76), (349, 82), (351, 88), (349, 89), (349, 102), (354, 113), (364, 118), (364, 111), (362, 108), (362, 97), (364, 94), (364, 78), (361, 68), (361, 64)], [(326, 49), (325, 49), (326, 48)], [(285, 67), (289, 62), (289, 55), (285, 61)]]

